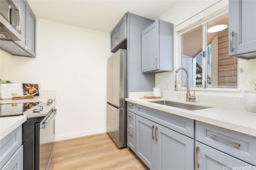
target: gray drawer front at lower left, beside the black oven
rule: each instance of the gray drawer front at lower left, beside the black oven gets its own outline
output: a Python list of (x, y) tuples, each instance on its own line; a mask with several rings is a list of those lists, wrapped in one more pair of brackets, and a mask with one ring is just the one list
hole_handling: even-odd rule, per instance
[(6, 164), (14, 152), (22, 144), (22, 125), (0, 141), (0, 168)]

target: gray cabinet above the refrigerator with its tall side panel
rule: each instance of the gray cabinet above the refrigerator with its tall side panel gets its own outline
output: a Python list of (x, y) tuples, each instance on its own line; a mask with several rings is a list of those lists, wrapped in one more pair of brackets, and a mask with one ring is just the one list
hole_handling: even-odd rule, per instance
[[(154, 23), (154, 20), (127, 12), (112, 31), (113, 34), (111, 33), (111, 51), (127, 49), (128, 98), (130, 92), (149, 92), (155, 86), (155, 75), (141, 72), (141, 32), (152, 23)], [(114, 32), (118, 35), (118, 45), (112, 50), (116, 41)]]

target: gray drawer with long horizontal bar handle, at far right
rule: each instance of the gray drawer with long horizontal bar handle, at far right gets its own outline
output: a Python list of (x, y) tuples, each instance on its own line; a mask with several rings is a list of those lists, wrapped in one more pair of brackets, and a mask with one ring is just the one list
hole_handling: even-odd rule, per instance
[(196, 121), (196, 141), (256, 165), (256, 137)]

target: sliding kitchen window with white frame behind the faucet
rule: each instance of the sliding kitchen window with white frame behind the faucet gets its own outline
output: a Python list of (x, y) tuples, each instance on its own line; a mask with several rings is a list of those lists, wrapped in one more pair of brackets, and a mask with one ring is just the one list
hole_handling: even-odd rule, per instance
[[(216, 25), (222, 30), (211, 31)], [(180, 42), (190, 87), (237, 88), (237, 59), (228, 56), (228, 13), (183, 31)], [(182, 71), (180, 81), (186, 84), (186, 72)]]

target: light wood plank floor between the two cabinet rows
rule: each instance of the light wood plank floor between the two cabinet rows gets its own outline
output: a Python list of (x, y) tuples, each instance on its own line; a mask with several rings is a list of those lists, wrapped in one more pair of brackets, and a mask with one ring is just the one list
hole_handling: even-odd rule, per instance
[(57, 141), (51, 170), (148, 170), (132, 150), (118, 149), (107, 133)]

